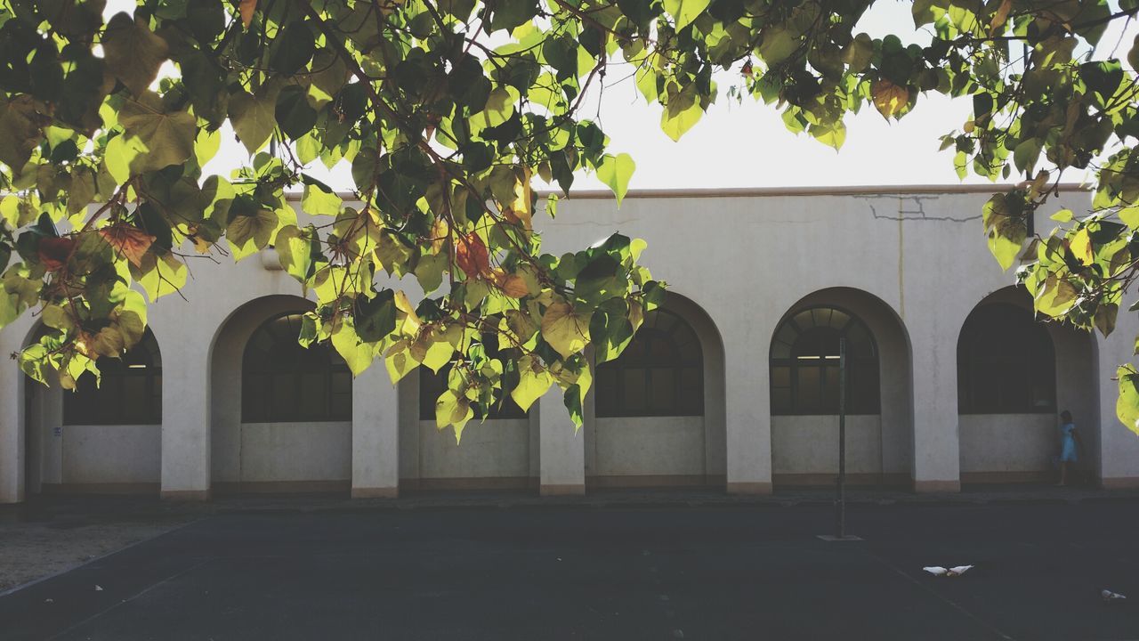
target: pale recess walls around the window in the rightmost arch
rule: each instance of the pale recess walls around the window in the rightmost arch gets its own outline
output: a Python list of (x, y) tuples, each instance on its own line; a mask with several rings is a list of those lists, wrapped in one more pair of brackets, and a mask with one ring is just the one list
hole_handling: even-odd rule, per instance
[[(989, 293), (970, 310), (988, 305), (1011, 305), (1032, 310), (1023, 287), (1007, 286)], [(960, 346), (965, 322), (958, 331)], [(1046, 323), (1056, 358), (1055, 412), (1026, 414), (959, 414), (962, 484), (1042, 482), (1054, 476), (1051, 457), (1059, 452), (1056, 414), (1068, 409), (1080, 428), (1085, 449), (1081, 469), (1100, 477), (1100, 421), (1098, 349), (1095, 334), (1059, 323)], [(960, 368), (961, 363), (958, 363)], [(958, 395), (961, 391), (958, 390)]]

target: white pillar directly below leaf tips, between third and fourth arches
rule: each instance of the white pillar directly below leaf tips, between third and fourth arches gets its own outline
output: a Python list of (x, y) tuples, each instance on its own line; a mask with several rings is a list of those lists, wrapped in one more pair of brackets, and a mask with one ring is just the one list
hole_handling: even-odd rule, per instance
[(539, 493), (585, 494), (585, 435), (575, 430), (563, 404), (564, 392), (550, 387), (536, 401)]

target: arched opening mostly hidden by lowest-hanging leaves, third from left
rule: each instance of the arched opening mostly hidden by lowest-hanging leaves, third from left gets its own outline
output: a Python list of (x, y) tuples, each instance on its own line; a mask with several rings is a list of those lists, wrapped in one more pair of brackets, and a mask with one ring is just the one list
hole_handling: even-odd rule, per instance
[[(515, 358), (487, 336), (489, 358)], [(420, 366), (400, 382), (400, 489), (523, 489), (538, 486), (536, 408), (523, 412), (509, 396), (497, 399), (483, 420), (475, 416), (462, 432), (440, 430), (435, 401), (446, 389), (451, 365), (439, 373)]]

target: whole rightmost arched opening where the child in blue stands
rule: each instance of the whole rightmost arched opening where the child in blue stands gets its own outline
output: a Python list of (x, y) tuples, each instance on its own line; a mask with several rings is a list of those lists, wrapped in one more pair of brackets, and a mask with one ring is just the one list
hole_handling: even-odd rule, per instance
[(973, 309), (957, 342), (962, 484), (1050, 480), (1063, 409), (1075, 416), (1087, 446), (1081, 476), (1098, 477), (1093, 347), (1084, 332), (1036, 319), (1017, 287)]

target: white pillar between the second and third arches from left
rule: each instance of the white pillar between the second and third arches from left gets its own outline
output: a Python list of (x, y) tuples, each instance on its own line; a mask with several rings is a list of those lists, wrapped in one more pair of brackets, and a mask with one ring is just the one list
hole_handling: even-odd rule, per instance
[(399, 395), (377, 358), (352, 381), (352, 497), (394, 498), (399, 486)]

